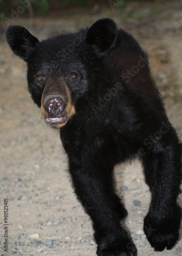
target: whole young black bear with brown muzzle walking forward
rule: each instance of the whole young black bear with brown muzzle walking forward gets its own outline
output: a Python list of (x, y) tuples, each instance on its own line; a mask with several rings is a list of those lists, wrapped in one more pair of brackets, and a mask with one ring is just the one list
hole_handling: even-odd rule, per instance
[(181, 219), (181, 144), (138, 42), (109, 18), (43, 41), (20, 26), (10, 26), (6, 37), (27, 62), (28, 89), (42, 118), (60, 129), (75, 194), (93, 223), (97, 255), (137, 255), (120, 224), (127, 211), (113, 177), (115, 164), (134, 158), (142, 161), (151, 191), (146, 237), (157, 251), (171, 249)]

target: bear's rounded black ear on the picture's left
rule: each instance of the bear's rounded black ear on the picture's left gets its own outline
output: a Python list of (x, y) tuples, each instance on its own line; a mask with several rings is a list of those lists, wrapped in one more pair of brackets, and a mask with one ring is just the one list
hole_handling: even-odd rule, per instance
[(16, 25), (8, 27), (6, 39), (14, 54), (25, 61), (29, 60), (31, 53), (39, 43), (39, 40), (27, 29)]

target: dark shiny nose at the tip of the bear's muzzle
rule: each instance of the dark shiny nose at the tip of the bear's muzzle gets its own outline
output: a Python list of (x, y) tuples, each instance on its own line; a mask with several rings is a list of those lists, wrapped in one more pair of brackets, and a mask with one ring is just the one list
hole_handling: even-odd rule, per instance
[(58, 117), (64, 110), (65, 103), (60, 96), (50, 97), (46, 100), (45, 110), (51, 117)]

